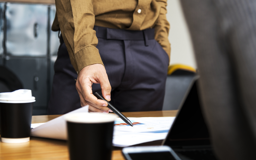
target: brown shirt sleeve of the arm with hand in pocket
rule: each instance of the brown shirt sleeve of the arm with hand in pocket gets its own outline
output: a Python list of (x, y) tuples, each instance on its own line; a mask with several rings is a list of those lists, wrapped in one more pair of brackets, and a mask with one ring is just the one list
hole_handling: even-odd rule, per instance
[(168, 34), (170, 29), (170, 24), (166, 19), (166, 6), (167, 0), (156, 0), (156, 2), (161, 6), (160, 14), (156, 20), (155, 28), (155, 39), (163, 47), (165, 52), (168, 54), (170, 59), (171, 54), (171, 44), (168, 40)]

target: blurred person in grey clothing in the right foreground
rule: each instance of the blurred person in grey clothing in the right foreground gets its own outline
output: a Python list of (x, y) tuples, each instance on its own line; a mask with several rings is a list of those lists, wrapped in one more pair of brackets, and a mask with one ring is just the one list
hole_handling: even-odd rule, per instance
[(256, 1), (181, 0), (220, 160), (256, 159)]

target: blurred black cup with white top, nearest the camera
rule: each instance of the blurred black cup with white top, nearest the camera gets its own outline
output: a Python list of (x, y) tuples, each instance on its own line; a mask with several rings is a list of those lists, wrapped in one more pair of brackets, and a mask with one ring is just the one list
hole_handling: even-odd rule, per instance
[(65, 117), (70, 160), (111, 160), (114, 114), (73, 113)]

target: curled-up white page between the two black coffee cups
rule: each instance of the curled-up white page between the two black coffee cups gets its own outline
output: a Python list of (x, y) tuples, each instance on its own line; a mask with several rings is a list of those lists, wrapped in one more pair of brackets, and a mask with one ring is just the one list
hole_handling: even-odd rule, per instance
[[(87, 105), (69, 113), (88, 112), (88, 107), (89, 106)], [(31, 129), (30, 135), (34, 137), (67, 140), (67, 126), (64, 116), (68, 115), (69, 113), (59, 116), (45, 124)]]

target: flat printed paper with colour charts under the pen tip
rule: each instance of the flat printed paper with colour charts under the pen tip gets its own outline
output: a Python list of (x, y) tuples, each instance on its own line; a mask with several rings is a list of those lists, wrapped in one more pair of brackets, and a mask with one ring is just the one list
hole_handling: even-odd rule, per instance
[(126, 147), (135, 144), (163, 140), (167, 136), (175, 117), (129, 117), (133, 127), (116, 118), (113, 145)]

